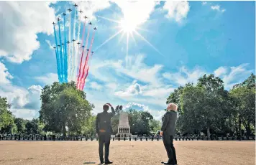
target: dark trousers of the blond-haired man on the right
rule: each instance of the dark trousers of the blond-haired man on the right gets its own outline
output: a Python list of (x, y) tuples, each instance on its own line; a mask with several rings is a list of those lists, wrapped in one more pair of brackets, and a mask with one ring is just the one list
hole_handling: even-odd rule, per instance
[(176, 152), (173, 146), (173, 136), (163, 133), (163, 144), (168, 155), (169, 163), (177, 164)]

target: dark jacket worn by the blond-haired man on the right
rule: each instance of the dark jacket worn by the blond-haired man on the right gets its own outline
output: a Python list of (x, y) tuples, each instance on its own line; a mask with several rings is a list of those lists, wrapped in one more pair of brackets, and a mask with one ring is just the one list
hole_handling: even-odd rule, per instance
[(169, 136), (175, 136), (176, 120), (177, 120), (176, 111), (170, 110), (166, 112), (162, 118), (163, 126), (161, 128), (161, 131), (163, 131), (164, 134), (167, 134)]

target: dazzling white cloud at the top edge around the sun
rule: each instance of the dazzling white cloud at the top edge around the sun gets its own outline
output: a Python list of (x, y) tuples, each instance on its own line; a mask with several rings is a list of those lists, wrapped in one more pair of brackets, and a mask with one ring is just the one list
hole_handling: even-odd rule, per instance
[(114, 1), (124, 14), (126, 24), (137, 27), (150, 19), (150, 14), (155, 10), (157, 1)]

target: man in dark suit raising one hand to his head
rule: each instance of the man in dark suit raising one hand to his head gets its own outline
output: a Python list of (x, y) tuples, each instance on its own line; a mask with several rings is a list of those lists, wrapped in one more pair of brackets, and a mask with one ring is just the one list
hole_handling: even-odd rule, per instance
[[(108, 113), (109, 106), (111, 107), (111, 113)], [(105, 164), (112, 164), (112, 162), (109, 161), (109, 144), (111, 133), (113, 132), (111, 127), (111, 118), (115, 115), (115, 111), (110, 103), (106, 103), (103, 106), (103, 110), (104, 111), (102, 113), (98, 113), (95, 124), (96, 136), (99, 137), (99, 159), (101, 164), (104, 164), (103, 146), (105, 144)]]

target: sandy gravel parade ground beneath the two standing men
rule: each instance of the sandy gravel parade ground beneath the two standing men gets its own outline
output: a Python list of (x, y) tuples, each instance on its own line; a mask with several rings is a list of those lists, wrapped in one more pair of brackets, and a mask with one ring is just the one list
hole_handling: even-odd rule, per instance
[[(255, 141), (174, 141), (178, 164), (255, 164)], [(111, 141), (114, 164), (161, 164), (163, 141)], [(0, 141), (0, 164), (99, 164), (97, 141)]]

